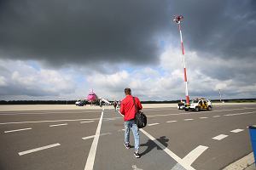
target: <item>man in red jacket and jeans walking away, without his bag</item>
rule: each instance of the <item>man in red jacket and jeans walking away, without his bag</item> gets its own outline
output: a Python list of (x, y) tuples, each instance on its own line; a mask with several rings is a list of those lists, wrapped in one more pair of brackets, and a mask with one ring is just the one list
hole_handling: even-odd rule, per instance
[[(137, 110), (136, 110), (136, 106)], [(131, 95), (131, 88), (125, 88), (125, 99), (122, 100), (119, 112), (124, 115), (125, 121), (125, 148), (130, 149), (130, 129), (134, 136), (134, 156), (139, 158), (140, 136), (139, 129), (135, 123), (136, 111), (143, 109), (140, 100), (137, 97)]]

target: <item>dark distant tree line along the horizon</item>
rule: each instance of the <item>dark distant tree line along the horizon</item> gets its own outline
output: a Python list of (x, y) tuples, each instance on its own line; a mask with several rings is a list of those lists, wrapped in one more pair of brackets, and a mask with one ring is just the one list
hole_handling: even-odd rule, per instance
[[(180, 100), (165, 100), (165, 101), (142, 101), (143, 104), (175, 104)], [(183, 99), (185, 101), (185, 99)], [(228, 102), (256, 102), (256, 99), (222, 99), (225, 103)], [(0, 105), (74, 105), (76, 100), (0, 100)], [(113, 102), (113, 101), (110, 101)], [(212, 99), (212, 102), (220, 102), (219, 99)]]

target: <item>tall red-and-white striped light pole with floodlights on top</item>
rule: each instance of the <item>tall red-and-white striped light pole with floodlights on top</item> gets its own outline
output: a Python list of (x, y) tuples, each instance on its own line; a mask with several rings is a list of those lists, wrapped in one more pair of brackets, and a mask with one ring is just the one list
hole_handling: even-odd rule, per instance
[(181, 31), (181, 20), (183, 20), (183, 15), (177, 15), (174, 16), (173, 21), (177, 24), (179, 35), (180, 35), (180, 41), (181, 41), (181, 47), (182, 47), (182, 54), (183, 54), (183, 66), (184, 66), (184, 82), (185, 82), (185, 93), (186, 93), (186, 104), (189, 105), (189, 90), (188, 90), (188, 79), (187, 79), (187, 69), (185, 64), (185, 50), (183, 46), (183, 34)]

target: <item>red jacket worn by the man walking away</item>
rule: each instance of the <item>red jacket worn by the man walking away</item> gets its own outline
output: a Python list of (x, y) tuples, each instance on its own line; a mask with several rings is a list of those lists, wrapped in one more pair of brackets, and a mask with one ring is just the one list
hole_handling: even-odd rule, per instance
[[(133, 96), (132, 95), (126, 95), (125, 99), (121, 101), (120, 110), (119, 112), (124, 115), (124, 120), (129, 121), (131, 119), (135, 118), (135, 105), (133, 104)], [(135, 103), (137, 105), (137, 111), (140, 111), (143, 109), (143, 105), (141, 104), (141, 101), (134, 97)]]

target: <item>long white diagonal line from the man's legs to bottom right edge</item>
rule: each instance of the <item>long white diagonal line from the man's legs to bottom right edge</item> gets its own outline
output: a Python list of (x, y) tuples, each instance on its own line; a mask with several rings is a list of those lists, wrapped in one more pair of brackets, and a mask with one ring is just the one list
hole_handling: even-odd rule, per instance
[(180, 157), (178, 157), (176, 154), (174, 154), (171, 150), (166, 148), (165, 145), (161, 144), (157, 139), (155, 139), (151, 134), (144, 131), (142, 128), (140, 129), (142, 133), (144, 133), (146, 136), (148, 136), (148, 139), (151, 139), (155, 144), (157, 144), (162, 150), (166, 152), (169, 156), (172, 157), (177, 163), (179, 163), (182, 167), (184, 167), (187, 170), (195, 170), (195, 168), (188, 165), (185, 161), (183, 161)]

